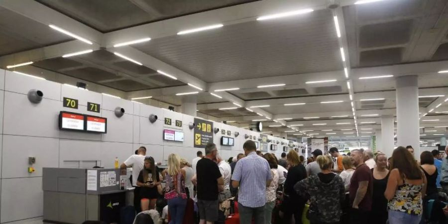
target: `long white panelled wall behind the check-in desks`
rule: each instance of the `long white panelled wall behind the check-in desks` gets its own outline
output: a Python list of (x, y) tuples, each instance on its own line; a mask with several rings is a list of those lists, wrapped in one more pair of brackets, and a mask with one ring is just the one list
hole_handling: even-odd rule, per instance
[[(27, 99), (30, 89), (43, 92), (44, 99), (32, 104)], [(62, 105), (64, 97), (79, 100), (79, 108), (68, 109)], [(88, 112), (87, 102), (101, 105), (101, 112)], [(118, 118), (115, 107), (125, 109)], [(92, 114), (108, 118), (108, 133), (82, 133), (60, 131), (60, 111)], [(148, 116), (158, 115), (155, 123)], [(172, 126), (164, 125), (164, 117), (173, 120)], [(115, 157), (120, 163), (143, 145), (147, 154), (156, 162), (166, 164), (169, 153), (192, 160), (200, 148), (193, 147), (193, 130), (188, 124), (194, 117), (178, 112), (132, 103), (123, 99), (104, 96), (93, 91), (84, 91), (59, 83), (39, 80), (0, 69), (0, 223), (36, 223), (43, 216), (42, 167), (64, 167), (64, 161), (99, 161), (106, 168), (113, 167)], [(175, 126), (175, 120), (182, 120), (183, 127)], [(243, 152), (245, 134), (259, 137), (259, 133), (224, 123), (214, 122), (220, 130), (239, 132), (235, 145), (221, 146), (221, 131), (214, 135), (223, 159)], [(180, 129), (185, 134), (184, 142), (162, 139), (164, 128)], [(285, 139), (269, 136), (275, 142)], [(273, 142), (274, 142), (273, 141)], [(280, 157), (282, 145), (276, 155)], [(270, 146), (269, 146), (270, 149)], [(203, 149), (202, 149), (203, 150)], [(270, 150), (269, 150), (270, 152)], [(28, 157), (36, 157), (36, 172), (28, 173)]]

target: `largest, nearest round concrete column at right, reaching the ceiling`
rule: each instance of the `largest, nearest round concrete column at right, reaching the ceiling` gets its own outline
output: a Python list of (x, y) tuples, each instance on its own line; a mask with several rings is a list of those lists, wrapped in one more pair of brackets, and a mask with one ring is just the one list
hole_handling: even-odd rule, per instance
[(412, 145), (414, 156), (420, 157), (419, 88), (417, 76), (396, 79), (397, 93), (397, 143)]

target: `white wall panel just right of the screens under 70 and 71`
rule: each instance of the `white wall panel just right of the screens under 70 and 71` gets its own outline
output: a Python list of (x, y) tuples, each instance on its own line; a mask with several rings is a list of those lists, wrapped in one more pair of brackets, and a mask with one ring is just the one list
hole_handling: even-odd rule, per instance
[(103, 110), (103, 117), (108, 118), (108, 132), (102, 134), (103, 141), (127, 142), (133, 141), (133, 115), (125, 113), (121, 117), (115, 116), (113, 111)]

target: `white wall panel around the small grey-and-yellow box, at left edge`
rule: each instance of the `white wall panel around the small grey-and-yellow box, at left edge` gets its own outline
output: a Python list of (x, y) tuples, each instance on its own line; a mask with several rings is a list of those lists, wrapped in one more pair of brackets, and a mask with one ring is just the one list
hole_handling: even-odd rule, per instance
[[(39, 177), (42, 167), (59, 167), (59, 139), (3, 135), (1, 178)], [(36, 170), (28, 173), (28, 157), (35, 157)]]

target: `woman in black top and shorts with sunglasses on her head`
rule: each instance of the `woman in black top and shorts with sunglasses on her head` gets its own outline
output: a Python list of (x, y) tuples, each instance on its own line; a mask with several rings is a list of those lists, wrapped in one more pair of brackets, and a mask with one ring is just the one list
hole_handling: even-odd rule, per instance
[(155, 208), (155, 204), (159, 196), (159, 185), (159, 169), (154, 164), (154, 158), (147, 156), (144, 160), (143, 170), (140, 171), (137, 179), (137, 186), (141, 187), (141, 211), (147, 211)]

